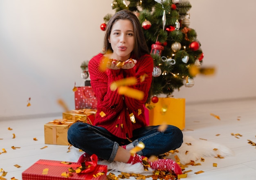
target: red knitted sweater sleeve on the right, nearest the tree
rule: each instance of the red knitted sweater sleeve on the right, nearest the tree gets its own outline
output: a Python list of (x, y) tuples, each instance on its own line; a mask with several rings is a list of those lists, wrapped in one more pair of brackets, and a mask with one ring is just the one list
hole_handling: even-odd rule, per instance
[[(142, 100), (124, 96), (125, 104), (128, 109), (137, 110), (143, 104), (145, 104), (152, 82), (153, 64), (153, 58), (150, 55), (144, 55), (139, 60), (137, 60), (134, 68), (126, 70), (126, 77), (134, 76), (137, 78), (137, 84), (131, 86), (131, 88), (144, 92), (144, 98)], [(143, 76), (144, 74), (147, 76), (145, 77), (144, 81), (141, 82), (140, 76)]]

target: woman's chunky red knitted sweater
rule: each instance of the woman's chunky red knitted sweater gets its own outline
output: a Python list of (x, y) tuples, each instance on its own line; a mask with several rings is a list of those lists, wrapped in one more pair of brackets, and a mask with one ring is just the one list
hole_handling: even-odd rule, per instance
[[(103, 54), (99, 53), (88, 63), (91, 85), (97, 97), (97, 113), (94, 125), (104, 127), (119, 138), (131, 138), (134, 129), (146, 126), (143, 104), (148, 98), (152, 81), (153, 58), (147, 54), (141, 56), (132, 69), (107, 69), (102, 72), (99, 69), (99, 64), (103, 57)], [(143, 82), (140, 82), (140, 76), (145, 73), (148, 76)], [(110, 84), (113, 81), (132, 76), (137, 78), (137, 84), (130, 87), (144, 91), (143, 100), (129, 98), (120, 95), (117, 90), (110, 90)], [(101, 117), (99, 114), (101, 111), (106, 116)], [(131, 122), (130, 113), (134, 114), (135, 123)]]

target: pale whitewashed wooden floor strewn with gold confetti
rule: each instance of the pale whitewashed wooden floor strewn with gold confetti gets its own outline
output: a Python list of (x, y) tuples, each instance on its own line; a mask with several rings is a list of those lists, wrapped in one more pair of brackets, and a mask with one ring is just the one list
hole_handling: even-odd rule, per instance
[[(219, 116), (220, 120), (210, 113)], [(0, 120), (0, 152), (2, 149), (7, 151), (0, 154), (0, 169), (8, 172), (4, 178), (10, 180), (15, 177), (21, 180), (22, 171), (39, 159), (69, 160), (68, 146), (44, 144), (44, 124), (61, 116)], [(12, 130), (8, 130), (9, 127)], [(202, 165), (189, 166), (185, 171), (192, 171), (188, 173), (187, 180), (256, 179), (256, 147), (247, 141), (256, 142), (256, 99), (186, 104), (186, 127), (183, 133), (195, 139), (204, 138), (225, 144), (235, 152), (234, 156), (224, 159), (205, 158), (204, 162), (200, 162)], [(236, 138), (231, 133), (242, 136)], [(37, 138), (37, 141), (33, 138)], [(40, 149), (46, 145), (47, 148)], [(13, 146), (16, 149), (12, 149)], [(218, 167), (213, 167), (213, 162)], [(20, 167), (15, 167), (15, 164)], [(195, 174), (197, 171), (204, 173)]]

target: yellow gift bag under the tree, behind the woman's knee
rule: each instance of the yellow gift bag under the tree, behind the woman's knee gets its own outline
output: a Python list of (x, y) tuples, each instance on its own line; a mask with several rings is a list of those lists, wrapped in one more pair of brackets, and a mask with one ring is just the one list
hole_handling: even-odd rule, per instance
[(159, 98), (157, 103), (146, 105), (149, 109), (149, 125), (170, 124), (183, 130), (185, 128), (185, 99)]

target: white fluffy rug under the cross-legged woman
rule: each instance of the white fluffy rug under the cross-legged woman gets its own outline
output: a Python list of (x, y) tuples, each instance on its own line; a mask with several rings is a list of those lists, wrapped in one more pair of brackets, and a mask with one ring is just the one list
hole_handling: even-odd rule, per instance
[[(191, 160), (196, 161), (204, 157), (234, 156), (234, 152), (224, 145), (207, 140), (195, 140), (191, 136), (184, 136), (182, 146), (176, 150), (177, 151), (174, 153), (169, 153), (166, 158), (175, 160), (174, 156), (178, 156), (181, 164), (189, 163)], [(77, 162), (83, 153), (83, 151), (79, 151), (79, 149), (71, 147), (70, 162)], [(139, 163), (130, 165), (123, 162), (110, 163), (107, 160), (103, 160), (99, 161), (98, 164), (108, 165), (108, 169), (112, 169), (112, 171), (120, 171), (126, 173), (145, 173), (153, 171), (150, 168), (148, 171), (144, 171), (143, 165)]]

